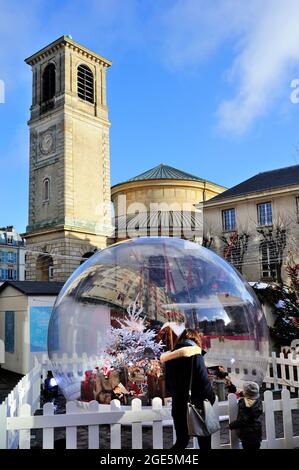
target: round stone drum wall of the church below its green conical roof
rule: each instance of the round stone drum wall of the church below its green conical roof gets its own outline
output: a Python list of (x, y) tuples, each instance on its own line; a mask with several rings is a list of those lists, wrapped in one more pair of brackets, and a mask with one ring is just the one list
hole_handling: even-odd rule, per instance
[[(163, 165), (160, 166), (163, 167)], [(172, 170), (183, 175), (180, 170), (173, 168)], [(110, 239), (110, 243), (124, 238), (154, 235), (157, 220), (155, 214), (162, 214), (158, 216), (161, 217), (157, 228), (158, 235), (177, 236), (201, 242), (202, 212), (199, 209), (199, 203), (222, 193), (225, 188), (200, 178), (196, 179), (196, 177), (188, 180), (186, 173), (185, 176), (185, 179), (182, 179), (183, 176), (177, 179), (175, 177), (169, 179), (133, 178), (113, 186), (111, 198), (115, 213), (115, 238)], [(138, 229), (131, 230), (130, 220), (135, 211), (139, 213), (137, 216), (139, 221), (136, 220)], [(183, 216), (182, 213), (185, 215)], [(143, 221), (144, 214), (145, 222)], [(184, 224), (188, 224), (192, 219), (196, 220), (194, 223), (197, 224), (198, 230), (189, 231), (188, 227), (184, 227)]]

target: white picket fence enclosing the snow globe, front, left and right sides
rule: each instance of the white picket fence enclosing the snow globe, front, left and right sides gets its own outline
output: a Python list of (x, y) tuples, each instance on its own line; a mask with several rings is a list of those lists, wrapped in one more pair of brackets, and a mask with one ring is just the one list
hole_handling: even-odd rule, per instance
[[(75, 358), (77, 359), (77, 358)], [(74, 362), (70, 371), (74, 371)], [(78, 373), (82, 375), (82, 362), (79, 361)], [(90, 361), (88, 361), (90, 362)], [(85, 366), (85, 361), (84, 361)], [(67, 365), (65, 365), (67, 368)], [(163, 426), (171, 425), (170, 409), (162, 406), (159, 398), (155, 398), (152, 407), (143, 407), (136, 399), (132, 408), (123, 407), (119, 402), (113, 401), (111, 405), (99, 405), (97, 402), (83, 404), (68, 402), (65, 414), (54, 415), (54, 408), (47, 403), (43, 408), (43, 415), (34, 416), (39, 408), (40, 387), (46, 377), (47, 363), (36, 361), (34, 368), (17, 384), (6, 400), (0, 404), (0, 449), (2, 448), (28, 448), (30, 446), (30, 431), (43, 430), (43, 448), (53, 448), (54, 429), (66, 429), (66, 446), (74, 448), (77, 445), (77, 427), (88, 426), (88, 446), (99, 448), (99, 426), (110, 425), (111, 448), (121, 446), (121, 427), (132, 425), (132, 448), (142, 445), (142, 426), (147, 423), (153, 427), (153, 448), (163, 448)], [(290, 391), (299, 390), (299, 355), (289, 354), (287, 358), (281, 353), (275, 353), (269, 358), (268, 373), (265, 377), (267, 387), (274, 390), (282, 389), (280, 400), (273, 399), (272, 391), (265, 392), (264, 412), (266, 423), (265, 448), (293, 448), (299, 447), (299, 436), (294, 436), (292, 424), (292, 410), (299, 409), (299, 398), (290, 398)], [(288, 390), (289, 389), (289, 390)], [(229, 416), (235, 419), (237, 401), (235, 395), (230, 395), (227, 402), (216, 403), (216, 412), (220, 417)], [(284, 437), (275, 437), (274, 413), (283, 414)], [(170, 424), (169, 424), (170, 423)], [(235, 448), (237, 439), (235, 433), (229, 434), (230, 443), (220, 445), (220, 434), (213, 435), (214, 448)]]

